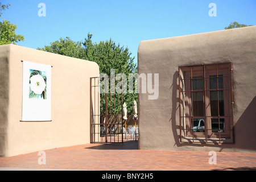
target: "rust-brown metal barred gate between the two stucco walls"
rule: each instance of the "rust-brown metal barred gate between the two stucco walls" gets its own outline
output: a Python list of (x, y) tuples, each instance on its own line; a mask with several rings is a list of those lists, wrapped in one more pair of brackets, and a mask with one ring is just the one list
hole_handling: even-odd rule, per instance
[(90, 78), (90, 143), (123, 143), (122, 76)]

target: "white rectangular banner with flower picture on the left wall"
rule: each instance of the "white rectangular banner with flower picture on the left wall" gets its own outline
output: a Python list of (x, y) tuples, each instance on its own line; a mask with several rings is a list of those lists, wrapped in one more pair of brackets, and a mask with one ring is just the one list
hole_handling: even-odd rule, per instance
[(22, 121), (51, 121), (51, 68), (23, 61)]

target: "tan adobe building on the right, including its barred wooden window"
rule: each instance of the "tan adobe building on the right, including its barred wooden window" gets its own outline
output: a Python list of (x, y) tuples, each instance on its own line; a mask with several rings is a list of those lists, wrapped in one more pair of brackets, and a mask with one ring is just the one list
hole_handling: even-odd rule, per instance
[(256, 152), (256, 26), (142, 41), (138, 73), (140, 149)]

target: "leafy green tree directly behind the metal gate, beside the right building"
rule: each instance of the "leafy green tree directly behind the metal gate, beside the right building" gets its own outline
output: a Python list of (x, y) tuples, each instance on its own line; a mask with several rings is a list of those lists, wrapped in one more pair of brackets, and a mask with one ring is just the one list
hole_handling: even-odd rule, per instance
[[(92, 42), (92, 34), (88, 34), (88, 37), (84, 39), (82, 42), (84, 45), (84, 52), (82, 52), (82, 59), (90, 60), (96, 62), (100, 67), (100, 73), (105, 73), (110, 76), (113, 73), (110, 72), (111, 69), (115, 70), (115, 75), (119, 73), (123, 73), (126, 75), (127, 84), (123, 83), (123, 88), (128, 92), (128, 78), (129, 74), (137, 73), (137, 65), (134, 64), (134, 57), (131, 57), (131, 53), (129, 49), (120, 44), (116, 44), (112, 39), (101, 41), (100, 43)], [(121, 79), (120, 79), (121, 80)], [(117, 81), (115, 80), (115, 85), (117, 85)], [(135, 82), (133, 83), (133, 88), (135, 88)], [(134, 89), (133, 89), (134, 90)], [(110, 96), (109, 96), (110, 97)], [(112, 101), (110, 102), (110, 98), (108, 101), (108, 108), (111, 108), (113, 113), (117, 113), (117, 97), (121, 97), (117, 94), (111, 94)], [(114, 108), (114, 98), (115, 98), (115, 110)], [(133, 101), (138, 101), (137, 93), (123, 93), (123, 101), (127, 104), (127, 114), (133, 114)], [(103, 103), (105, 103), (105, 98), (103, 98)], [(120, 101), (120, 98), (119, 98)], [(102, 106), (105, 109), (105, 106)], [(119, 113), (122, 112), (122, 107), (119, 106)], [(110, 110), (108, 111), (110, 113)]]

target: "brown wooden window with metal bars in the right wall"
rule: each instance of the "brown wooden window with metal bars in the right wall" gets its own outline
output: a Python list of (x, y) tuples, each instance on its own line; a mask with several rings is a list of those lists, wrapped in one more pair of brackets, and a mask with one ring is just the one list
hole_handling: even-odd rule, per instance
[(179, 67), (181, 142), (233, 142), (232, 64)]

